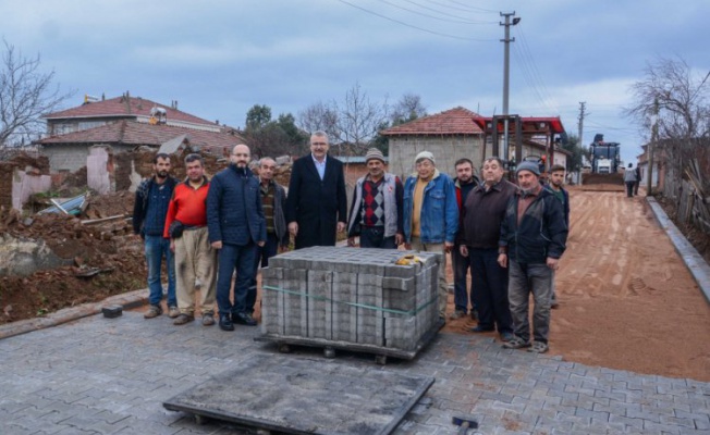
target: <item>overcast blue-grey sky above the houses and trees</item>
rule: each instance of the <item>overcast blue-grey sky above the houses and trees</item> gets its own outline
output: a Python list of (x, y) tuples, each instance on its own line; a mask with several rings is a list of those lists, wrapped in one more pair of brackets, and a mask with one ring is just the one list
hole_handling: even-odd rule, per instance
[(710, 1), (661, 0), (0, 0), (0, 35), (41, 55), (63, 90), (126, 90), (244, 126), (254, 104), (273, 117), (342, 101), (356, 83), (375, 101), (421, 97), (433, 114), (463, 105), (502, 113), (504, 27), (511, 27), (510, 113), (561, 116), (635, 162), (647, 136), (623, 116), (629, 86), (660, 57), (710, 70)]

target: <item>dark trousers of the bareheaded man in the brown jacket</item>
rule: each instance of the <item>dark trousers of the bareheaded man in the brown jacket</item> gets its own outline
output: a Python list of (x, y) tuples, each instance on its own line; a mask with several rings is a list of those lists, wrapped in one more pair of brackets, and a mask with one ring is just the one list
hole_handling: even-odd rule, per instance
[(507, 270), (498, 264), (498, 248), (468, 248), (472, 298), (478, 310), (478, 325), (495, 326), (499, 333), (513, 332), (507, 301)]

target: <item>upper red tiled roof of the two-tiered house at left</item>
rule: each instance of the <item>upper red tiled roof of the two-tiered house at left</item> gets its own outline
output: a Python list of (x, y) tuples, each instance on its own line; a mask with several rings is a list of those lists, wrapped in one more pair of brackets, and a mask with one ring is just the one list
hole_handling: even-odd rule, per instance
[(145, 116), (150, 117), (150, 109), (154, 107), (163, 108), (169, 121), (181, 121), (193, 124), (215, 125), (213, 122), (191, 115), (189, 113), (172, 109), (169, 105), (146, 100), (140, 97), (117, 97), (103, 101), (85, 102), (76, 108), (62, 110), (45, 115), (46, 120), (62, 120), (72, 117), (126, 117)]

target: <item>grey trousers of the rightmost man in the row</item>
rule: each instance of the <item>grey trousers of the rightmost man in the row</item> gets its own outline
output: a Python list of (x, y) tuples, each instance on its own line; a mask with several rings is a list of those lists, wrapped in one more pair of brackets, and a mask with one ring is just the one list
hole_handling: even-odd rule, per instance
[(552, 290), (552, 270), (547, 264), (524, 264), (507, 261), (507, 296), (515, 335), (525, 341), (530, 340), (528, 303), (530, 293), (535, 300), (532, 310), (534, 339), (548, 343), (550, 334), (550, 293)]

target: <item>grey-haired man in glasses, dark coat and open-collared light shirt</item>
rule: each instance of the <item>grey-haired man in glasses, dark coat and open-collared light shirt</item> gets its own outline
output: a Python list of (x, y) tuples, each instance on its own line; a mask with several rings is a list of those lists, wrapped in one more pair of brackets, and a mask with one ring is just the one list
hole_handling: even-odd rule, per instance
[(293, 164), (286, 219), (296, 249), (335, 246), (335, 234), (345, 231), (347, 198), (343, 163), (328, 156), (328, 135), (310, 136), (310, 154)]

